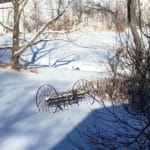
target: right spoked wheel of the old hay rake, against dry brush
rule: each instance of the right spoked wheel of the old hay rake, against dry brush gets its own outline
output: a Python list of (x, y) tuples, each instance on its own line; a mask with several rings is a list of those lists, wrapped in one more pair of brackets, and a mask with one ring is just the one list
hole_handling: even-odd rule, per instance
[[(88, 95), (88, 97), (86, 98), (86, 102), (88, 102), (89, 104), (93, 104), (94, 102), (94, 88), (92, 83), (88, 80), (81, 79), (75, 82), (72, 88), (72, 93), (74, 95), (74, 98)], [(89, 100), (89, 97), (93, 100)]]

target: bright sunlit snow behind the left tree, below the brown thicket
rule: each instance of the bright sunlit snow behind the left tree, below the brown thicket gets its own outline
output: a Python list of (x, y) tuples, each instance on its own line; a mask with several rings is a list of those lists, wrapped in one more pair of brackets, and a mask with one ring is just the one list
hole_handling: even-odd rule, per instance
[[(110, 71), (109, 61), (114, 55), (110, 47), (115, 47), (116, 41), (115, 32), (75, 32), (61, 37), (61, 40), (45, 39), (39, 42), (22, 54), (21, 61), (32, 67), (79, 68), (82, 71), (106, 72)], [(1, 36), (0, 45), (10, 47), (11, 35)], [(0, 51), (1, 62), (6, 62), (6, 58), (9, 58), (6, 52)]]

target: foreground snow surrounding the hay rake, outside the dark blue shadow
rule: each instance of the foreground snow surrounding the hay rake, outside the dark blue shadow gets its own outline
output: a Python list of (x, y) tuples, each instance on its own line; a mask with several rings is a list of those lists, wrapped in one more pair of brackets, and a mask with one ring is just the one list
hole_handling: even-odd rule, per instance
[[(77, 79), (93, 75), (61, 69), (45, 69), (39, 71), (38, 75), (0, 69), (1, 150), (52, 149), (88, 115), (90, 109), (87, 109), (85, 103), (81, 103), (80, 107), (73, 105), (69, 110), (53, 115), (38, 112), (35, 105), (37, 88), (47, 83), (58, 91), (67, 90)], [(94, 107), (97, 105), (93, 105), (92, 109)]]

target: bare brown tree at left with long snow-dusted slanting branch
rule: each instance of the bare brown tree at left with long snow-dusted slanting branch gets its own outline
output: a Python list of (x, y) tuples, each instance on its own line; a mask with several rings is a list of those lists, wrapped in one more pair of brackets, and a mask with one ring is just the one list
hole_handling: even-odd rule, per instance
[(22, 12), (28, 2), (28, 0), (12, 0), (11, 1), (13, 4), (13, 21), (14, 25), (13, 28), (8, 27), (7, 25), (3, 24), (0, 22), (0, 24), (11, 30), (13, 32), (13, 45), (12, 45), (12, 68), (19, 70), (21, 68), (21, 65), (19, 63), (19, 56), (22, 52), (24, 52), (28, 47), (30, 47), (34, 41), (38, 38), (38, 36), (52, 23), (56, 22), (66, 11), (68, 4), (65, 6), (63, 10), (57, 14), (54, 18), (50, 19), (45, 23), (40, 29), (38, 29), (38, 32), (36, 33), (35, 36), (24, 46), (20, 46), (20, 18), (22, 15)]

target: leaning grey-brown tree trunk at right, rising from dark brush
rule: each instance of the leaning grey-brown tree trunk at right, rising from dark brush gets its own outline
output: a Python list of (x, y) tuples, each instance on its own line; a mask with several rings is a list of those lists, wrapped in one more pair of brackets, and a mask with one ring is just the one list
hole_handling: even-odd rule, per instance
[[(132, 77), (135, 81), (132, 81), (132, 89), (135, 90), (135, 95), (132, 95), (132, 101), (134, 105), (138, 106), (138, 109), (143, 113), (148, 112), (148, 92), (149, 92), (149, 79), (148, 79), (148, 63), (149, 58), (146, 54), (146, 46), (142, 41), (142, 35), (138, 32), (138, 29), (142, 26), (137, 13), (140, 13), (140, 9), (137, 10), (137, 6), (140, 4), (139, 0), (128, 0), (128, 22), (131, 29), (131, 33), (134, 40), (134, 46), (131, 47), (133, 56), (132, 60)], [(139, 12), (138, 12), (139, 11)], [(138, 27), (138, 29), (137, 29)], [(149, 50), (148, 50), (149, 51)]]

